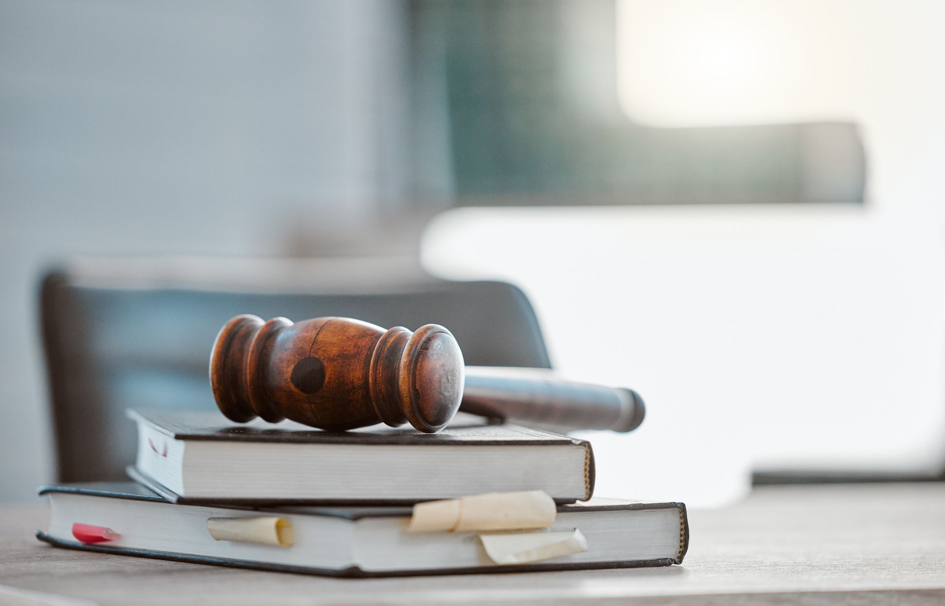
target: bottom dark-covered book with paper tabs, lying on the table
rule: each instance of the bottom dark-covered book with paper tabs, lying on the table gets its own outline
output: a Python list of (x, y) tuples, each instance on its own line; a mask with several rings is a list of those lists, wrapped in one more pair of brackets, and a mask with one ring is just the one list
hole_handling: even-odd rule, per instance
[[(60, 547), (191, 563), (369, 577), (667, 566), (689, 543), (681, 503), (593, 499), (559, 505), (552, 528), (579, 530), (587, 550), (496, 564), (473, 532), (411, 533), (411, 508), (177, 505), (132, 482), (47, 486), (51, 519), (37, 536)], [(259, 544), (214, 534), (214, 521), (278, 516), (292, 538)], [(266, 519), (273, 519), (268, 517)], [(248, 520), (244, 520), (248, 521)]]

